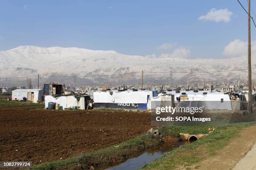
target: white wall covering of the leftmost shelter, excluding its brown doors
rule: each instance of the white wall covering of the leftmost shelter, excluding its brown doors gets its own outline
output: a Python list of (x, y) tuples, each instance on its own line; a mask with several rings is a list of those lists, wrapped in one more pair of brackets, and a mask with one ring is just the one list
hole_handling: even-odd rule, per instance
[(28, 92), (34, 92), (34, 100), (36, 103), (37, 100), (42, 100), (42, 96), (44, 95), (43, 89), (16, 89), (12, 91), (12, 100), (23, 100), (23, 97), (28, 98)]

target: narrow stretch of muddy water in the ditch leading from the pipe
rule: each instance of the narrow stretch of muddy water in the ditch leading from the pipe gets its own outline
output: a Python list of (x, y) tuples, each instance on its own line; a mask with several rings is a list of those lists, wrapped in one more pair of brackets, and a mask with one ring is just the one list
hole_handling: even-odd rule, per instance
[(182, 141), (177, 143), (164, 143), (160, 147), (148, 149), (133, 158), (126, 160), (123, 163), (111, 164), (105, 167), (98, 167), (95, 169), (100, 170), (137, 170), (143, 165), (151, 163), (153, 160), (160, 158), (162, 155), (166, 154), (168, 151), (177, 148), (181, 145), (186, 145), (188, 142)]

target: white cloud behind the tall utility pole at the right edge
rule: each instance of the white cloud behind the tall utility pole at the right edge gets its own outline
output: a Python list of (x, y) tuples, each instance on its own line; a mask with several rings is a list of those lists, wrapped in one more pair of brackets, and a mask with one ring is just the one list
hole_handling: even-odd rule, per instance
[[(223, 55), (230, 57), (241, 57), (242, 55), (247, 55), (248, 42), (242, 40), (233, 40), (227, 46), (225, 46)], [(256, 53), (256, 41), (251, 42), (251, 52)]]

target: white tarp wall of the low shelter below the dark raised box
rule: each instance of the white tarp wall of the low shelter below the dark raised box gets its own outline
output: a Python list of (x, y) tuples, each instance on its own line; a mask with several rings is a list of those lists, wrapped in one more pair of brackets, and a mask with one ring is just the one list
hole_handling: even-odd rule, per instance
[(48, 107), (49, 102), (56, 102), (56, 104), (59, 104), (59, 107), (61, 108), (69, 108), (69, 107), (75, 107), (78, 105), (77, 98), (74, 97), (73, 95), (60, 95), (53, 97), (51, 95), (46, 95), (44, 97), (44, 103), (45, 103), (45, 108)]

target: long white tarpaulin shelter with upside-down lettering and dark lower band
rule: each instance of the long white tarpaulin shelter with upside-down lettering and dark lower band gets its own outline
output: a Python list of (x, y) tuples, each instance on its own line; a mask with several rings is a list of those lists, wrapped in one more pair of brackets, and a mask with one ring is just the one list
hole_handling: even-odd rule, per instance
[(147, 110), (149, 97), (156, 97), (157, 90), (106, 90), (93, 92), (94, 107), (113, 109)]

